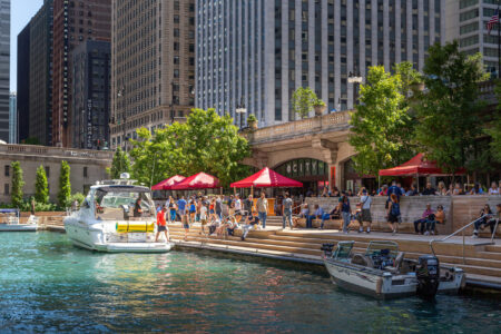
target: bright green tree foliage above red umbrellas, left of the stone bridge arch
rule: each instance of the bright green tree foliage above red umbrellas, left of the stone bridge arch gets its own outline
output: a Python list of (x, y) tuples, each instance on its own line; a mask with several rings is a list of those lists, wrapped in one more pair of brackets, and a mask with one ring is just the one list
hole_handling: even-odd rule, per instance
[(194, 109), (185, 124), (174, 122), (155, 135), (141, 128), (138, 139), (130, 143), (132, 177), (146, 185), (176, 174), (205, 171), (228, 186), (248, 173), (248, 167), (239, 164), (249, 156), (247, 140), (228, 115), (220, 117), (214, 109)]

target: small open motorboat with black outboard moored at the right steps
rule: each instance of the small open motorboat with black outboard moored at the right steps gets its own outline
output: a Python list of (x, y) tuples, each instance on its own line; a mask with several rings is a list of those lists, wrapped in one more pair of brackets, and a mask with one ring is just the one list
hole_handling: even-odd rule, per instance
[(433, 298), (438, 292), (456, 293), (465, 284), (464, 272), (441, 267), (439, 258), (422, 255), (404, 258), (394, 242), (371, 242), (364, 254), (352, 254), (355, 242), (323, 244), (323, 259), (338, 286), (381, 299), (419, 295)]

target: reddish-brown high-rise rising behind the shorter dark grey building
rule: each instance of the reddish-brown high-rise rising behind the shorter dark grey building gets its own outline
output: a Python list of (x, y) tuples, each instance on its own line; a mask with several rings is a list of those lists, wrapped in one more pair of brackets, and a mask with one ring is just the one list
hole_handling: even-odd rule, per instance
[(110, 33), (111, 0), (53, 0), (52, 145), (71, 145), (73, 49), (86, 40), (110, 41)]

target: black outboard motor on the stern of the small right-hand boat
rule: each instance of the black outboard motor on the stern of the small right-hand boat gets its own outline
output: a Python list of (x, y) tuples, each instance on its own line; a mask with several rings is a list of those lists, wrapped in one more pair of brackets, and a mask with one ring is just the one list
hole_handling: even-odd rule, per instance
[(433, 298), (440, 283), (439, 258), (433, 255), (420, 256), (415, 275), (418, 277), (418, 295), (425, 299)]

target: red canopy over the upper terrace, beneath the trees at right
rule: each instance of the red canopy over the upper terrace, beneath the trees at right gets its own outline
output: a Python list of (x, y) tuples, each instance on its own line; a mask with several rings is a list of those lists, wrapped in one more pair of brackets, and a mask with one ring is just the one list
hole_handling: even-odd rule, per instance
[[(455, 171), (455, 175), (464, 174), (464, 168)], [(409, 161), (389, 169), (381, 169), (380, 176), (406, 176), (406, 175), (446, 175), (436, 161), (430, 161), (424, 158), (423, 154), (418, 154)]]

